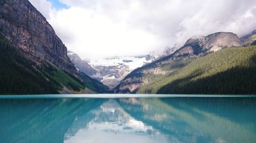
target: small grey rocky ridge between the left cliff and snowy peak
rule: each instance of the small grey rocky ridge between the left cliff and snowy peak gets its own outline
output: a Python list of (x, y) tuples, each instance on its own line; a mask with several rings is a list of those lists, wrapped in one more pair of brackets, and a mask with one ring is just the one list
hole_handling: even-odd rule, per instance
[(89, 65), (87, 61), (82, 60), (76, 53), (68, 51), (68, 56), (71, 62), (79, 71), (89, 76), (96, 74), (97, 70), (95, 70), (91, 65)]

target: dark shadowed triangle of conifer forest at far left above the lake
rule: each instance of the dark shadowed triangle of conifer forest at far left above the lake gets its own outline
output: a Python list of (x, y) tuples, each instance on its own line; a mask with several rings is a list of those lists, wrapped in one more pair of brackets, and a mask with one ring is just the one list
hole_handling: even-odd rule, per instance
[(22, 58), (2, 36), (0, 38), (0, 94), (56, 94), (55, 85), (46, 80), (33, 63)]

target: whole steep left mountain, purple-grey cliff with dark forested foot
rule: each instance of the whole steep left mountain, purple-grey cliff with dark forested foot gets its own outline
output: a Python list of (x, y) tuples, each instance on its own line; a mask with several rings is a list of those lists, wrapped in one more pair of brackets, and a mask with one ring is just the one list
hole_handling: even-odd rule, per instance
[(77, 71), (52, 26), (27, 0), (0, 1), (0, 94), (102, 93)]

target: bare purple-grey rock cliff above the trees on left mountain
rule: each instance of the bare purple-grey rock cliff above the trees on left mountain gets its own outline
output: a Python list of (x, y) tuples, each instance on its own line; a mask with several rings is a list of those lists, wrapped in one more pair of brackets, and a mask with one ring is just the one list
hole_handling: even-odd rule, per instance
[(77, 70), (68, 58), (66, 46), (28, 0), (6, 0), (0, 6), (0, 28), (25, 58), (38, 65), (51, 62), (76, 75)]

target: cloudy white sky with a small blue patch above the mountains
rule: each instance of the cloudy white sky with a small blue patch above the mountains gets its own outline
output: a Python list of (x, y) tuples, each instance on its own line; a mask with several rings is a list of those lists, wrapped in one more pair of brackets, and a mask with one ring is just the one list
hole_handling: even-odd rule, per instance
[(82, 59), (145, 55), (195, 35), (256, 29), (255, 0), (29, 0)]

